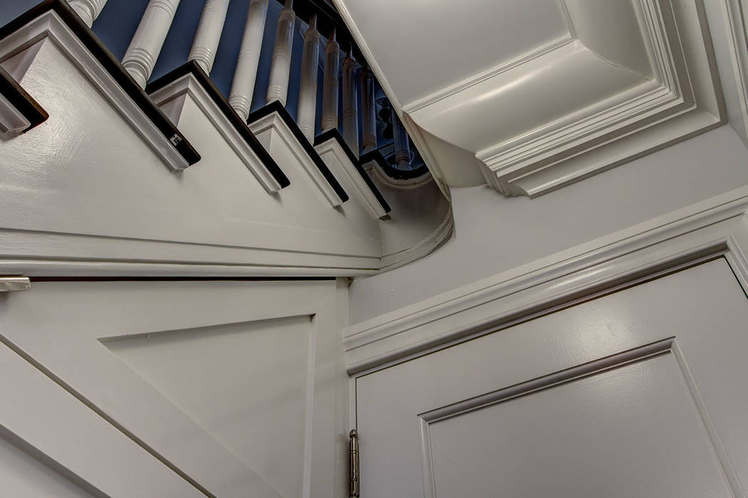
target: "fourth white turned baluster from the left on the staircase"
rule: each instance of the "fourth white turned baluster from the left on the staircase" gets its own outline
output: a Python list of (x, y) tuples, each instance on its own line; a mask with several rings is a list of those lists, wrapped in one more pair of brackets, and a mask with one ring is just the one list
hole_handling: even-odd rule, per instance
[(260, 50), (263, 46), (265, 20), (268, 16), (268, 0), (251, 0), (247, 11), (247, 21), (242, 35), (242, 45), (236, 58), (229, 103), (234, 110), (247, 120), (252, 105), (254, 84), (257, 82), (257, 65), (260, 64)]

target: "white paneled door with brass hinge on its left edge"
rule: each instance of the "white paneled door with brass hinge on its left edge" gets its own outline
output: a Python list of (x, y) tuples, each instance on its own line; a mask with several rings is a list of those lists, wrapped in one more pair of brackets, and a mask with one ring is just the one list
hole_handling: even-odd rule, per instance
[(747, 326), (720, 258), (359, 377), (361, 496), (743, 496)]

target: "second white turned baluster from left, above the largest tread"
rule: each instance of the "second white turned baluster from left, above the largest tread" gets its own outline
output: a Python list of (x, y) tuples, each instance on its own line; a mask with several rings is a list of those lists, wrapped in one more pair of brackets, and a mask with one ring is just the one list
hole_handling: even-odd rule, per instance
[(150, 0), (132, 36), (122, 65), (141, 87), (145, 87), (153, 72), (179, 4), (180, 0)]

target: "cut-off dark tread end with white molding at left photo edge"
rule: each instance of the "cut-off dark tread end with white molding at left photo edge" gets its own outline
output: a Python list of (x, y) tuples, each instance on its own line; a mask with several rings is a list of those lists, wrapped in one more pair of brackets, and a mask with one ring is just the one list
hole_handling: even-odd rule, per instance
[(38, 126), (49, 114), (0, 67), (0, 138), (7, 140)]

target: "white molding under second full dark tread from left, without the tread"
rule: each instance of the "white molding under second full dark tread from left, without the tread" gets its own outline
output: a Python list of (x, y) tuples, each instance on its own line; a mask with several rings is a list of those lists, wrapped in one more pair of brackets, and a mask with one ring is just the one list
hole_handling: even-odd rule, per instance
[[(180, 101), (179, 98), (185, 95), (192, 99), (197, 108), (200, 108), (200, 111), (203, 112), (205, 117), (221, 134), (221, 137), (224, 138), (226, 144), (242, 159), (242, 162), (251, 171), (257, 182), (260, 182), (260, 185), (263, 185), (263, 188), (269, 194), (275, 194), (275, 192), (281, 190), (281, 184), (278, 183), (278, 180), (263, 165), (262, 160), (257, 157), (257, 154), (247, 144), (247, 141), (242, 138), (242, 135), (239, 135), (239, 132), (236, 131), (236, 128), (230, 123), (226, 115), (218, 108), (215, 101), (210, 98), (205, 88), (197, 82), (194, 75), (188, 73), (173, 83), (151, 93), (150, 97), (153, 99), (153, 102), (156, 102), (156, 105), (162, 108), (162, 111), (171, 119), (171, 122), (175, 126), (179, 126), (184, 108), (184, 100), (181, 99)], [(168, 105), (170, 102), (172, 105)]]

